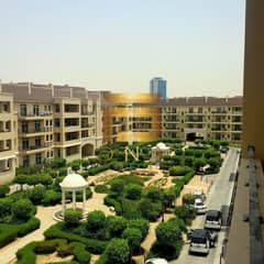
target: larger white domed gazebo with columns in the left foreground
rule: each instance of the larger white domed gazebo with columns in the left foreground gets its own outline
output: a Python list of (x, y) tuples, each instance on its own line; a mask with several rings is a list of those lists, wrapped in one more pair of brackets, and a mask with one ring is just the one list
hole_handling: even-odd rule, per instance
[(82, 215), (85, 215), (86, 208), (86, 188), (88, 183), (84, 179), (84, 177), (76, 173), (68, 174), (63, 182), (59, 184), (62, 187), (62, 204), (63, 204), (63, 217), (66, 210), (66, 200), (65, 193), (70, 191), (73, 194), (73, 208), (76, 209), (76, 191), (82, 191)]

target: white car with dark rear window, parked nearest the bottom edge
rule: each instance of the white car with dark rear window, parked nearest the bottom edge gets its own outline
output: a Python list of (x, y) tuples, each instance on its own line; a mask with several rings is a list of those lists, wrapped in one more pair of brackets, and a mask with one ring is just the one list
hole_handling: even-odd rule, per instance
[(208, 254), (210, 248), (216, 245), (218, 235), (206, 229), (195, 229), (190, 234), (189, 253)]

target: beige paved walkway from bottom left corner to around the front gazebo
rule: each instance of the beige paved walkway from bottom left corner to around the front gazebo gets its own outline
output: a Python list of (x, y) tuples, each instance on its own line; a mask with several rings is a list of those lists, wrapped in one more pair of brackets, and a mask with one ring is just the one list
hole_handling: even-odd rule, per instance
[[(92, 194), (92, 199), (87, 200), (86, 209), (88, 212), (94, 210), (101, 210), (107, 216), (113, 215), (107, 206), (103, 205), (103, 198), (106, 194)], [(69, 207), (69, 205), (67, 205)], [(77, 206), (81, 207), (81, 204), (77, 202)], [(31, 232), (30, 234), (19, 238), (12, 243), (0, 249), (0, 264), (14, 263), (15, 253), (19, 249), (23, 248), (32, 241), (42, 241), (44, 239), (43, 232), (48, 229), (56, 221), (53, 219), (53, 213), (62, 209), (62, 206), (55, 207), (37, 207), (36, 218), (41, 219), (40, 229)]]

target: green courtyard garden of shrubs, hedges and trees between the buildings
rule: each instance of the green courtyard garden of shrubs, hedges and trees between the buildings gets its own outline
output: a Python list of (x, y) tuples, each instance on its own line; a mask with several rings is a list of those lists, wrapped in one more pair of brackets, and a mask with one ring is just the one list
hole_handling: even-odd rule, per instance
[[(146, 253), (148, 256), (177, 258), (184, 243), (183, 233), (196, 212), (185, 204), (175, 208), (175, 199), (194, 175), (219, 172), (222, 163), (219, 148), (227, 143), (199, 140), (186, 147), (180, 140), (163, 142), (172, 152), (160, 163), (165, 176), (152, 184), (147, 183), (154, 174), (145, 174), (144, 169), (151, 164), (151, 147), (157, 142), (130, 146), (134, 153), (140, 147), (138, 161), (132, 155), (125, 161), (127, 143), (120, 142), (97, 150), (94, 158), (75, 160), (70, 164), (66, 164), (64, 158), (55, 158), (43, 166), (18, 168), (14, 183), (20, 185), (19, 190), (8, 195), (8, 187), (0, 187), (0, 248), (40, 227), (40, 220), (34, 217), (36, 206), (61, 204), (59, 183), (69, 167), (85, 178), (113, 169), (118, 175), (106, 177), (99, 184), (94, 182), (92, 190), (106, 194), (105, 205), (113, 208), (116, 216), (92, 211), (81, 220), (78, 210), (67, 210), (64, 221), (44, 232), (45, 241), (32, 242), (18, 251), (18, 263), (35, 263), (37, 255), (54, 252), (62, 260), (70, 256), (69, 261), (67, 258), (61, 264), (89, 263), (92, 255), (100, 255), (97, 264), (127, 264), (133, 256)], [(205, 166), (207, 169), (201, 172)], [(143, 170), (136, 173), (136, 169)], [(166, 177), (173, 180), (165, 188)], [(87, 199), (92, 197), (92, 190), (87, 188)], [(70, 194), (66, 198), (70, 199)], [(81, 201), (81, 194), (76, 198)], [(167, 212), (175, 213), (175, 217), (164, 221)], [(161, 221), (155, 230), (156, 241), (150, 252), (144, 252), (141, 243), (148, 233), (150, 222), (155, 221)]]

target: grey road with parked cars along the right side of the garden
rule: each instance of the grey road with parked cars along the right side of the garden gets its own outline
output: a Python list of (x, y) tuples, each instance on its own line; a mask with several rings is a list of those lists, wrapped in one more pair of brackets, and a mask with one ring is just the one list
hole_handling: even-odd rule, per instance
[[(217, 179), (212, 185), (210, 193), (207, 198), (208, 209), (221, 210), (223, 212), (223, 222), (226, 222), (228, 217), (228, 209), (232, 197), (232, 190), (234, 182), (230, 178), (231, 173), (235, 173), (238, 169), (239, 154), (238, 148), (231, 148), (228, 153), (227, 158), (223, 162), (223, 165), (217, 175)], [(205, 216), (198, 216), (194, 223), (193, 228), (204, 228)], [(216, 248), (210, 250), (210, 253), (207, 256), (200, 255), (189, 255), (189, 244), (185, 244), (180, 255), (177, 260), (169, 262), (170, 264), (219, 264), (220, 254), (222, 251), (222, 242), (224, 239), (224, 227), (218, 233), (218, 243)]]

